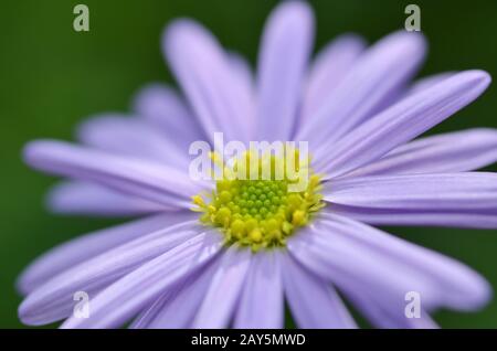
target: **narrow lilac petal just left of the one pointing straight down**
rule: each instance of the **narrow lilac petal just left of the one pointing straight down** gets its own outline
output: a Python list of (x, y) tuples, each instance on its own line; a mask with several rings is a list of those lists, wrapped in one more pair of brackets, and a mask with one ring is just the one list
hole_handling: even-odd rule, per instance
[(193, 320), (193, 328), (225, 328), (233, 317), (251, 264), (248, 249), (230, 247)]

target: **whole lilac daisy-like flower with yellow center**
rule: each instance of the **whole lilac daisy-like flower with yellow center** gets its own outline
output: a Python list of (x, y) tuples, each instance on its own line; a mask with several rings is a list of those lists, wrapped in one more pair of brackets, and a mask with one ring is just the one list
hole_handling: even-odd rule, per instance
[[(436, 308), (489, 300), (470, 268), (371, 225), (497, 227), (497, 176), (472, 171), (497, 159), (497, 132), (412, 141), (490, 77), (465, 71), (410, 84), (425, 42), (408, 32), (369, 49), (340, 36), (309, 65), (313, 25), (306, 3), (281, 4), (253, 79), (200, 24), (176, 21), (162, 49), (184, 100), (151, 85), (133, 116), (84, 123), (81, 145), (27, 146), (30, 166), (70, 179), (50, 194), (56, 212), (146, 217), (36, 259), (18, 284), (23, 322), (281, 328), (286, 302), (299, 327), (353, 328), (347, 300), (373, 326), (429, 328)], [(190, 143), (212, 145), (218, 131), (244, 142), (309, 141), (307, 188), (290, 192), (286, 178), (191, 180)], [(77, 291), (89, 297), (88, 318), (73, 313)], [(419, 316), (405, 311), (410, 294)]]

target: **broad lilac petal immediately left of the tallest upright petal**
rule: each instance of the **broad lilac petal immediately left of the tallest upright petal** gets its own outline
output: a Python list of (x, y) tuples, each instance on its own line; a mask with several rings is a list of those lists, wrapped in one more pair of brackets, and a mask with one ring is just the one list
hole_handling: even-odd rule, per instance
[(193, 21), (176, 21), (163, 51), (207, 136), (223, 131), (229, 140), (247, 141), (254, 116), (243, 109), (245, 91), (236, 88), (241, 81), (212, 34)]

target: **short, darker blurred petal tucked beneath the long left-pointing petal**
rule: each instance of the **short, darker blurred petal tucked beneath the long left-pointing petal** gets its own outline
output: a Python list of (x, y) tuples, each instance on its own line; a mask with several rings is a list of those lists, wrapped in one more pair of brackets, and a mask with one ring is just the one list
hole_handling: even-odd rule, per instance
[(162, 204), (81, 181), (65, 181), (53, 187), (47, 205), (55, 213), (93, 216), (131, 216), (170, 210)]

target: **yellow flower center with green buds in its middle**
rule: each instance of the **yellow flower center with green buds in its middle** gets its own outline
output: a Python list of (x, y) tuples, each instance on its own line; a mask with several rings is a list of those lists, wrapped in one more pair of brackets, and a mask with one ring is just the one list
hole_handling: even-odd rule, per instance
[[(322, 195), (318, 193), (321, 188), (319, 176), (313, 174), (308, 166), (304, 166), (306, 172), (290, 177), (287, 163), (299, 162), (298, 150), (293, 152), (297, 159), (289, 161), (276, 156), (266, 158), (266, 161), (254, 160), (254, 153), (248, 151), (231, 168), (221, 163), (224, 173), (216, 181), (215, 190), (204, 196), (192, 196), (195, 205), (192, 210), (202, 213), (202, 223), (221, 230), (226, 245), (237, 243), (253, 251), (285, 246), (286, 238), (298, 227), (308, 224), (324, 206)], [(267, 164), (271, 164), (271, 176), (261, 179), (263, 168)], [(275, 176), (277, 164), (283, 169), (281, 177)], [(248, 169), (252, 170), (254, 166), (258, 179), (246, 179), (250, 178)], [(296, 169), (300, 171), (303, 167)], [(296, 188), (296, 184), (303, 185)]]

